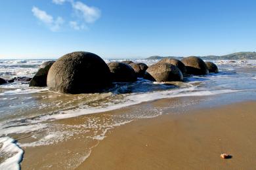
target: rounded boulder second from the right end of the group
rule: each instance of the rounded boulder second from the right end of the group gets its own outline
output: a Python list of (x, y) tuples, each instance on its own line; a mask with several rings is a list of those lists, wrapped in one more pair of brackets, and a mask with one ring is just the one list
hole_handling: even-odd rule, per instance
[(190, 56), (182, 58), (181, 61), (186, 66), (188, 75), (207, 75), (209, 73), (205, 62), (201, 58)]

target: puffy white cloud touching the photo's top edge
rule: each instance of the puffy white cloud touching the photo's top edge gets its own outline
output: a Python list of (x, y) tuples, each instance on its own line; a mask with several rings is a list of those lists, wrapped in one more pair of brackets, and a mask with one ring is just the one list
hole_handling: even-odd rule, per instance
[(96, 7), (89, 7), (80, 1), (72, 1), (72, 7), (79, 16), (83, 16), (83, 20), (87, 23), (93, 23), (100, 18), (101, 12)]

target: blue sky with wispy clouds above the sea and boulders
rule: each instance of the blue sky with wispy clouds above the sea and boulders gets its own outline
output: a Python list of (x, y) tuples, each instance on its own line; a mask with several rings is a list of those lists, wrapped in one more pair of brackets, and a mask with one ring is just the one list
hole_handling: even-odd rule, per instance
[(255, 51), (255, 0), (1, 0), (0, 59)]

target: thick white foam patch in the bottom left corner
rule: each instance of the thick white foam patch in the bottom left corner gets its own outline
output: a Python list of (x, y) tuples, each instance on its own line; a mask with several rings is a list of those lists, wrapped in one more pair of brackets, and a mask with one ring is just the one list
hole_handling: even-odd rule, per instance
[(20, 169), (19, 163), (22, 161), (24, 151), (10, 137), (1, 137), (0, 143), (3, 143), (3, 146), (0, 148), (1, 155), (11, 155), (11, 158), (7, 158), (0, 164), (0, 169)]

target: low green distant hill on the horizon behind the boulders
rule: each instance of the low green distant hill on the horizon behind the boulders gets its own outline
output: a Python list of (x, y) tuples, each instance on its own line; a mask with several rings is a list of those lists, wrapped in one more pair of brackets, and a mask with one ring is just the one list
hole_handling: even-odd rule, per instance
[[(215, 59), (256, 59), (256, 52), (236, 52), (224, 56), (198, 56), (202, 59), (209, 59), (209, 60), (215, 60)], [(175, 56), (151, 56), (146, 59), (163, 59), (163, 58), (181, 58), (181, 57), (175, 57)]]

